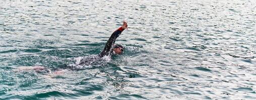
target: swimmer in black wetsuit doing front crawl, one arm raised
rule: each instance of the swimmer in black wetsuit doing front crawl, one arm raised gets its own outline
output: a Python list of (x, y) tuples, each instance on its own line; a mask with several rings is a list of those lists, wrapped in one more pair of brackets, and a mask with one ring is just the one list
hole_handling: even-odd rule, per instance
[[(88, 65), (95, 65), (98, 63), (102, 63), (104, 62), (104, 60), (102, 60), (102, 57), (104, 56), (109, 56), (111, 54), (121, 54), (124, 51), (124, 47), (120, 44), (114, 44), (116, 38), (121, 34), (121, 32), (127, 28), (127, 22), (123, 21), (122, 26), (120, 26), (118, 29), (116, 29), (111, 36), (109, 37), (109, 39), (107, 40), (107, 43), (105, 45), (105, 47), (103, 48), (103, 50), (97, 55), (97, 56), (85, 56), (83, 58), (81, 58), (81, 60), (79, 61), (79, 63), (73, 64), (73, 65), (67, 65), (67, 64), (63, 64), (60, 65), (59, 67), (52, 69), (52, 71), (54, 71), (54, 73), (61, 71), (61, 69), (83, 69), (84, 66), (88, 66)], [(98, 64), (101, 65), (101, 64)], [(36, 72), (51, 72), (50, 69), (47, 69), (44, 66), (34, 66), (34, 67), (20, 67), (19, 69), (33, 69)]]

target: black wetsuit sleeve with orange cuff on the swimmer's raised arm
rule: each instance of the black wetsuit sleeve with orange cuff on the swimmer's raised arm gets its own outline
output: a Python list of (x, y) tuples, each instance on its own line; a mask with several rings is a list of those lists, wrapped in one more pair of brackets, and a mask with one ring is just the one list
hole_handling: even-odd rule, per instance
[(115, 39), (121, 34), (121, 32), (124, 29), (122, 27), (119, 27), (117, 30), (115, 30), (111, 36), (109, 37), (109, 39), (107, 40), (107, 43), (104, 47), (104, 49), (100, 52), (99, 56), (103, 57), (105, 55), (109, 55), (109, 53), (111, 52), (112, 46), (115, 43)]

